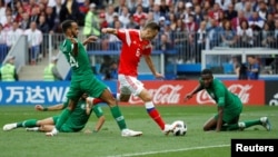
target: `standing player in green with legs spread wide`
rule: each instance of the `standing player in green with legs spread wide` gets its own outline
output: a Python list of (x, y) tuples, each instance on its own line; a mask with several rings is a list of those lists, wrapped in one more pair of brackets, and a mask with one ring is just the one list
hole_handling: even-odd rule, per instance
[(63, 109), (58, 122), (56, 124), (56, 127), (51, 131), (46, 133), (46, 135), (54, 136), (59, 130), (61, 130), (61, 126), (70, 117), (72, 110), (77, 106), (79, 97), (83, 92), (87, 92), (90, 97), (100, 98), (105, 102), (107, 102), (107, 105), (110, 107), (113, 118), (116, 119), (121, 130), (121, 136), (130, 137), (142, 135), (141, 131), (133, 131), (127, 128), (125, 118), (121, 115), (117, 101), (112, 97), (110, 90), (92, 73), (91, 65), (85, 46), (89, 42), (96, 41), (97, 37), (91, 36), (83, 42), (80, 42), (77, 38), (79, 32), (77, 22), (72, 20), (64, 20), (61, 27), (66, 39), (63, 40), (60, 50), (67, 58), (72, 71), (70, 89), (67, 94), (69, 105), (66, 109)]

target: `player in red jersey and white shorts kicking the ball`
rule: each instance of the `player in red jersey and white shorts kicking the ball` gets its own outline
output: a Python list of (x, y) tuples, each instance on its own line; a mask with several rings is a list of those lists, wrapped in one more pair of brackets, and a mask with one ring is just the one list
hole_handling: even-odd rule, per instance
[(159, 30), (160, 27), (158, 23), (149, 22), (141, 30), (103, 28), (101, 31), (117, 36), (122, 42), (118, 71), (120, 82), (120, 96), (118, 99), (127, 102), (131, 94), (141, 98), (149, 116), (157, 122), (160, 129), (168, 135), (173, 130), (176, 125), (168, 125), (163, 121), (159, 111), (155, 108), (151, 95), (143, 87), (143, 84), (137, 79), (137, 69), (141, 57), (145, 58), (156, 78), (163, 78), (163, 76), (156, 70), (150, 56), (151, 40), (156, 38)]

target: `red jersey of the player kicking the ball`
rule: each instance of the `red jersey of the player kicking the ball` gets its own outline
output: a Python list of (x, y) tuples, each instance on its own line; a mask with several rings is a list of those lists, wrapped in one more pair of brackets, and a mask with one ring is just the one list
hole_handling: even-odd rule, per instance
[(151, 43), (142, 40), (140, 31), (136, 29), (119, 29), (117, 36), (122, 42), (119, 73), (137, 77), (140, 57), (151, 53)]

